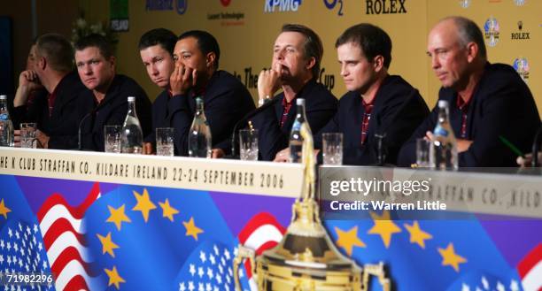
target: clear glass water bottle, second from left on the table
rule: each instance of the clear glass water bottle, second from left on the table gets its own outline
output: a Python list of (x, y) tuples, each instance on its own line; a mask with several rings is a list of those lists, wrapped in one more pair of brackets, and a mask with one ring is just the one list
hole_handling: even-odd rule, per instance
[(143, 132), (136, 114), (136, 97), (128, 97), (128, 114), (122, 125), (120, 151), (128, 154), (143, 152)]

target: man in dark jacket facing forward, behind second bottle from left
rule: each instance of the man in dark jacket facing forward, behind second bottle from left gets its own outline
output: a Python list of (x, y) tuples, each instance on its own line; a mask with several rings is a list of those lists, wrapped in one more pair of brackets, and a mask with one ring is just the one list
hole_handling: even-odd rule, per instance
[(89, 108), (81, 124), (82, 149), (104, 151), (104, 126), (122, 126), (128, 113), (128, 96), (136, 97), (136, 113), (143, 136), (151, 131), (151, 101), (135, 80), (115, 72), (111, 43), (100, 34), (89, 34), (75, 43), (75, 65), (88, 89), (83, 93)]

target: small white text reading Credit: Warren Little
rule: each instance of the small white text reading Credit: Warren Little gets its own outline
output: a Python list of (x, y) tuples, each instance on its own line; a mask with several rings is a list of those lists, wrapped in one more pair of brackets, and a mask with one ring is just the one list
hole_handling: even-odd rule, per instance
[(385, 201), (331, 201), (332, 211), (445, 211), (446, 204), (440, 201), (416, 201), (416, 203), (388, 203)]

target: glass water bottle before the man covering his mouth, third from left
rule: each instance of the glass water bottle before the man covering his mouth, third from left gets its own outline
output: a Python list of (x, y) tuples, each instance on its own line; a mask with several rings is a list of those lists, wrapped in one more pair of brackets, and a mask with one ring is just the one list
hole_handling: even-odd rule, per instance
[(203, 99), (196, 98), (196, 115), (190, 126), (189, 157), (211, 157), (211, 128), (205, 118)]

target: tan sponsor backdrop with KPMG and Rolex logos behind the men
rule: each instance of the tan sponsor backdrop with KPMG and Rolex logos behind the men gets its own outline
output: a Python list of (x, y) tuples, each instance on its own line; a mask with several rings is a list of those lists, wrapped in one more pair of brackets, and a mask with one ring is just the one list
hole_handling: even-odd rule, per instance
[[(90, 20), (110, 15), (109, 1), (82, 4)], [(393, 41), (391, 73), (400, 74), (419, 88), (432, 107), (439, 83), (426, 56), (427, 34), (438, 19), (462, 15), (482, 28), (492, 62), (514, 65), (542, 108), (539, 35), (542, 1), (535, 0), (145, 0), (130, 2), (129, 30), (120, 34), (118, 64), (121, 73), (138, 80), (151, 98), (158, 95), (144, 72), (136, 49), (141, 34), (166, 27), (181, 34), (205, 29), (221, 44), (221, 68), (235, 73), (257, 98), (259, 71), (270, 65), (272, 46), (284, 23), (312, 27), (324, 43), (319, 80), (340, 97), (345, 93), (334, 48), (346, 27), (370, 22), (383, 27)]]

